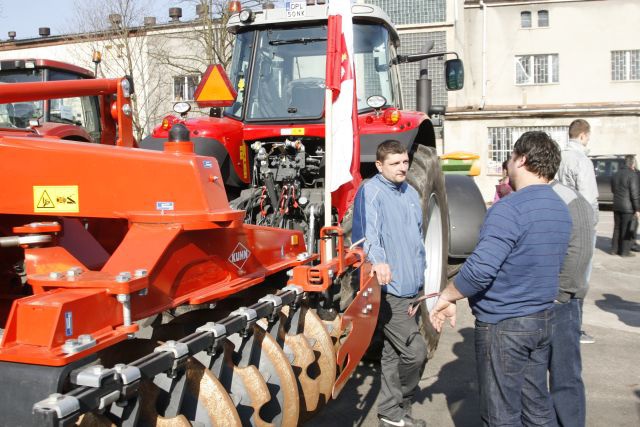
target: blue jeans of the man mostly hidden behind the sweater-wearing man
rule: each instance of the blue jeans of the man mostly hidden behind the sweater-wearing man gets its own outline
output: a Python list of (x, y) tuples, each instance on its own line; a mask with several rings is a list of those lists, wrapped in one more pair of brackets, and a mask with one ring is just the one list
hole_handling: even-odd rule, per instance
[(584, 383), (580, 356), (580, 300), (554, 304), (549, 385), (558, 424), (582, 427), (585, 424)]

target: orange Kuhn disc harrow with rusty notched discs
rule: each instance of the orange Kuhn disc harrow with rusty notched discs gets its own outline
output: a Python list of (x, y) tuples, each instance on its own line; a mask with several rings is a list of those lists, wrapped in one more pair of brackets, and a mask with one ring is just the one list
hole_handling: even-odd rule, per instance
[[(367, 348), (371, 266), (338, 227), (320, 232), (335, 253), (314, 254), (302, 231), (244, 223), (183, 125), (162, 151), (129, 148), (131, 92), (126, 78), (0, 90), (111, 97), (118, 123), (113, 145), (0, 129), (0, 425), (295, 426)], [(353, 302), (321, 319), (344, 275)]]

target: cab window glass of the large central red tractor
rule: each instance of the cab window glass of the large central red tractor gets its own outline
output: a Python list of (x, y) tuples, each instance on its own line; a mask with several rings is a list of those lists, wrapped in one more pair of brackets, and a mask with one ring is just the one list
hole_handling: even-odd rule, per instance
[[(226, 114), (250, 121), (313, 120), (324, 113), (327, 27), (256, 30), (238, 34), (230, 79), (238, 92)], [(358, 109), (382, 95), (396, 103), (387, 30), (354, 25)]]

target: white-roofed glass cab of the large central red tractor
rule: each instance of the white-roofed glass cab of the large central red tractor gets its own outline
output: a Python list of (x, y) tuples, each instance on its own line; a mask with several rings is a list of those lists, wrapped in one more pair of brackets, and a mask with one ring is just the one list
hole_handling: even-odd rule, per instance
[[(370, 96), (402, 108), (397, 67), (399, 38), (384, 12), (353, 6), (355, 80), (359, 112), (372, 110)], [(229, 78), (238, 96), (226, 116), (245, 122), (320, 121), (324, 113), (327, 7), (310, 5), (304, 15), (287, 9), (234, 15), (236, 43)], [(383, 106), (383, 107), (384, 107)]]

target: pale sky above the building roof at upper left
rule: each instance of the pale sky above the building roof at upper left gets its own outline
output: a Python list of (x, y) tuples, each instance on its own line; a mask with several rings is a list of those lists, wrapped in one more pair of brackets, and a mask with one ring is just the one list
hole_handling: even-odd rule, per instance
[[(7, 32), (15, 31), (16, 38), (38, 37), (38, 28), (51, 28), (51, 35), (73, 33), (74, 0), (0, 0), (0, 41), (7, 40)], [(169, 20), (169, 7), (182, 7), (183, 18), (195, 16), (193, 4), (180, 0), (154, 0), (153, 12), (158, 23)], [(106, 16), (105, 16), (106, 19)]]

